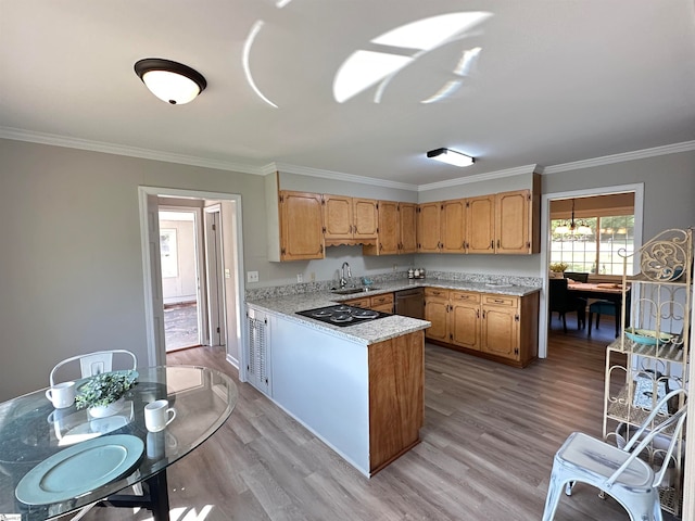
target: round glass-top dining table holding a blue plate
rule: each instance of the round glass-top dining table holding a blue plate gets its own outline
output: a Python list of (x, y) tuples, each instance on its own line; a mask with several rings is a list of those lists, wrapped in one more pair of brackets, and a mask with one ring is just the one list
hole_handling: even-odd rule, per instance
[[(54, 409), (46, 389), (0, 404), (0, 519), (51, 519), (101, 501), (141, 506), (155, 521), (168, 520), (166, 468), (223, 425), (237, 404), (237, 387), (205, 367), (137, 372), (119, 410), (104, 418), (75, 404)], [(76, 381), (77, 393), (87, 380)], [(149, 432), (143, 409), (155, 399), (168, 399), (176, 417)], [(117, 494), (137, 483), (146, 484), (143, 496)]]

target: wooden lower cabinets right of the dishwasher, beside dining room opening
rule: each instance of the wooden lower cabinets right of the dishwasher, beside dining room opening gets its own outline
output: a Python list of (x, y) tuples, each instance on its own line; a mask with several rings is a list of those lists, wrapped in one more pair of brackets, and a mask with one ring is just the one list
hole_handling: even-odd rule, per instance
[(425, 289), (428, 340), (525, 367), (538, 357), (539, 293), (525, 296)]

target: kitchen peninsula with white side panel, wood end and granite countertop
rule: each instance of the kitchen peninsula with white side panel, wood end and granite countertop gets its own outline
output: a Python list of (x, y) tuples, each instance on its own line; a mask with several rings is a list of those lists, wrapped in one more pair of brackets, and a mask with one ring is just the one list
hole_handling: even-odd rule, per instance
[[(485, 283), (435, 279), (378, 285), (353, 295), (315, 291), (247, 301), (249, 381), (367, 476), (419, 442), (424, 332), (431, 322), (393, 315), (340, 327), (298, 313), (413, 287), (491, 291)], [(535, 293), (538, 301), (538, 288), (498, 287), (514, 296)]]

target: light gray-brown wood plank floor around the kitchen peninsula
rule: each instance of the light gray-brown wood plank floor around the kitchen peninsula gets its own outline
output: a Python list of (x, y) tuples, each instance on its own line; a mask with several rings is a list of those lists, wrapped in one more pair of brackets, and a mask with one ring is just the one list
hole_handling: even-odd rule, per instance
[[(599, 334), (563, 334), (558, 321), (553, 327), (548, 358), (526, 369), (428, 344), (421, 443), (370, 480), (238, 383), (226, 424), (168, 471), (172, 520), (541, 519), (557, 448), (574, 430), (601, 434), (607, 343)], [(168, 363), (235, 373), (207, 347), (173, 353)], [(150, 517), (108, 508), (84, 519)], [(627, 519), (615, 500), (585, 485), (563, 497), (556, 516)]]

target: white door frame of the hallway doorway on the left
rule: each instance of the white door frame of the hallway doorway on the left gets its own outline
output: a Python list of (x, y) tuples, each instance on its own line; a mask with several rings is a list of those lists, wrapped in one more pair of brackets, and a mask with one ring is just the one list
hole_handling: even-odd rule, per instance
[[(236, 297), (236, 306), (237, 306), (237, 316), (241, 316), (242, 306), (243, 306), (243, 295), (244, 295), (244, 278), (243, 278), (243, 224), (241, 219), (241, 195), (233, 193), (223, 193), (223, 192), (205, 192), (202, 190), (181, 190), (175, 188), (164, 188), (164, 187), (147, 187), (140, 186), (138, 187), (138, 200), (140, 205), (140, 239), (141, 239), (141, 251), (142, 251), (142, 274), (143, 274), (143, 285), (144, 285), (144, 319), (146, 319), (146, 339), (147, 339), (147, 352), (148, 352), (148, 364), (151, 366), (164, 365), (166, 363), (166, 351), (164, 345), (164, 338), (157, 331), (155, 331), (154, 320), (155, 320), (155, 312), (153, 307), (152, 300), (152, 282), (156, 280), (156, 277), (161, 279), (161, 271), (159, 274), (153, 272), (151, 255), (150, 255), (150, 233), (148, 229), (148, 205), (147, 200), (148, 195), (170, 195), (177, 198), (194, 198), (194, 199), (206, 199), (206, 200), (220, 200), (220, 201), (233, 201), (235, 207), (235, 220), (237, 225), (236, 237), (237, 237), (237, 278), (239, 280), (239, 284), (237, 288), (237, 297)], [(159, 241), (157, 241), (159, 243)], [(160, 268), (161, 270), (161, 268)], [(225, 321), (226, 322), (226, 321)], [(225, 323), (225, 327), (227, 325)], [(239, 321), (239, 327), (236, 328), (236, 336), (238, 345), (242, 345), (241, 339), (245, 338), (245, 322), (243, 320)], [(226, 339), (229, 339), (229, 330), (227, 329)], [(244, 350), (239, 350), (239, 366), (245, 367), (245, 353)], [(239, 377), (242, 381), (245, 380), (244, 371), (239, 371)]]

